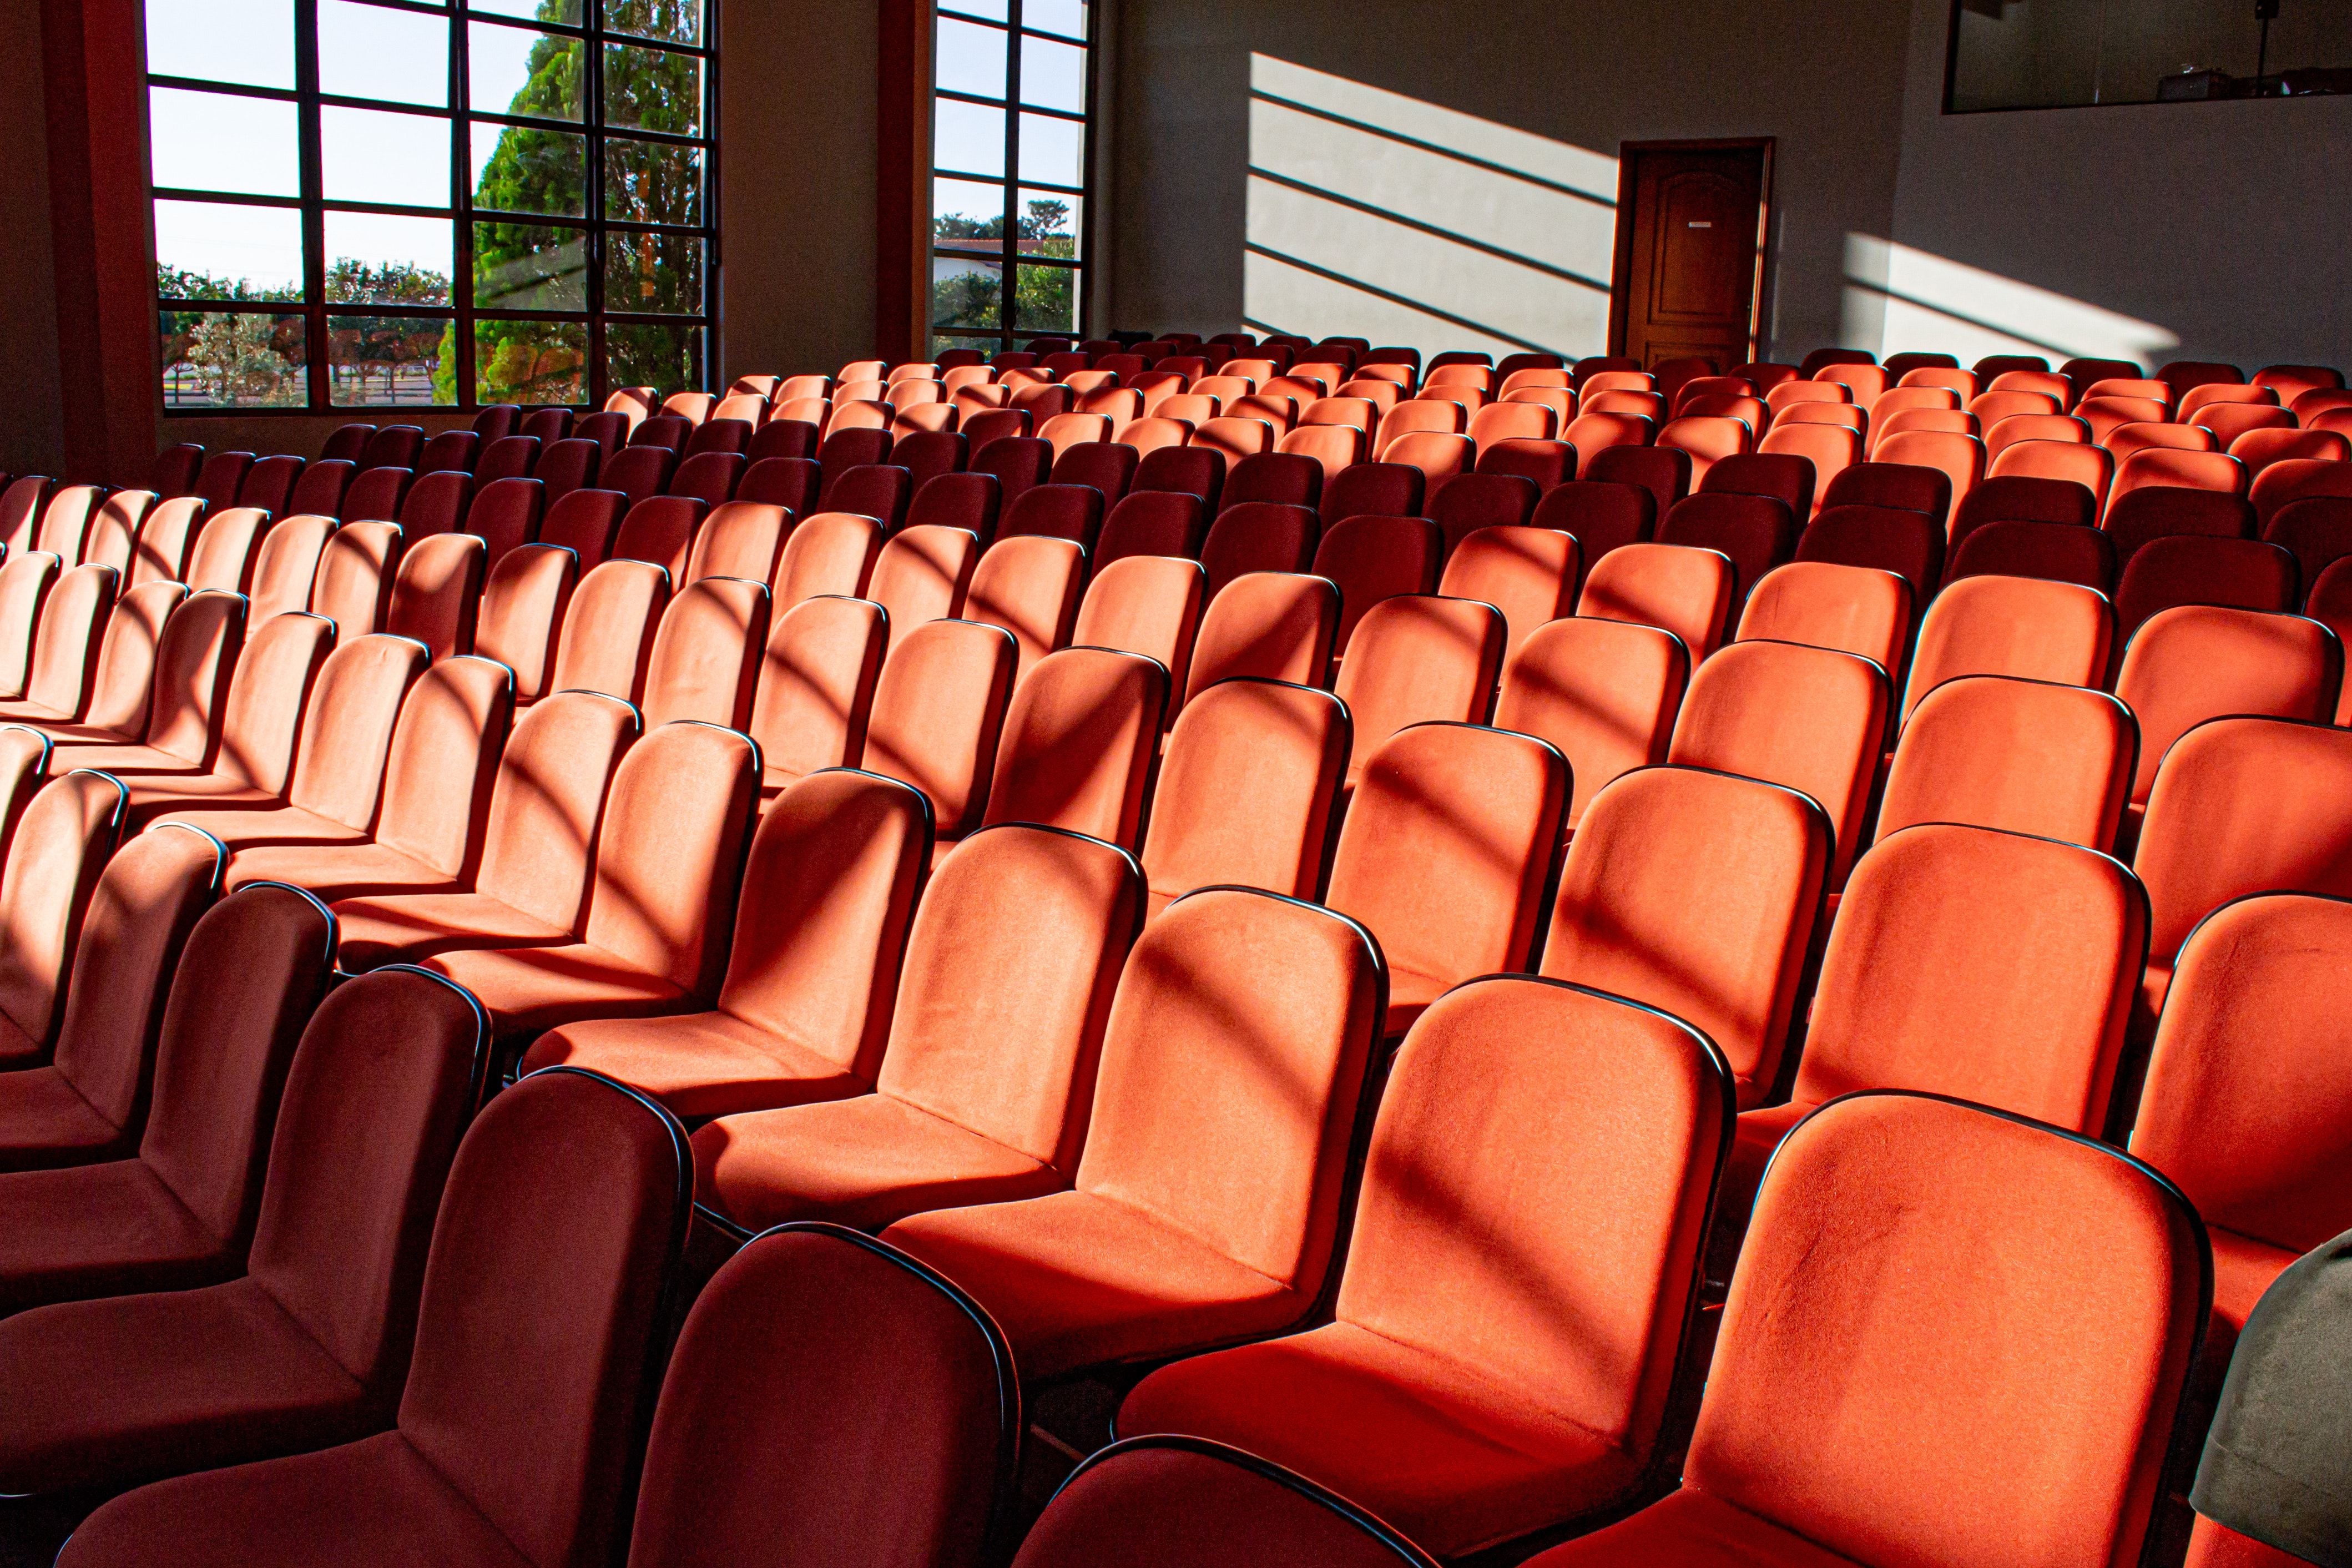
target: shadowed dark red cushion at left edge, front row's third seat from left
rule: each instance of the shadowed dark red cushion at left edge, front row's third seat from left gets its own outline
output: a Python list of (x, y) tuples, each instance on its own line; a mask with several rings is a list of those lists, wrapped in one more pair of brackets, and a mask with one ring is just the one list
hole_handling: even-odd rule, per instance
[(242, 1251), (188, 1213), (136, 1159), (0, 1175), (0, 1314), (45, 1302), (193, 1291), (235, 1276)]

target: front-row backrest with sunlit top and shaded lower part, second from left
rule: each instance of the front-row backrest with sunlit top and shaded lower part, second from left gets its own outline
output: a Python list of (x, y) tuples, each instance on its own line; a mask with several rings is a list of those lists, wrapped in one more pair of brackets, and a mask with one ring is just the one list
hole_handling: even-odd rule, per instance
[[(179, 954), (219, 896), (226, 870), (219, 839), (172, 823), (125, 842), (89, 893), (66, 985), (56, 1072), (132, 1140)], [(127, 1152), (120, 1143), (92, 1150), (99, 1157)]]

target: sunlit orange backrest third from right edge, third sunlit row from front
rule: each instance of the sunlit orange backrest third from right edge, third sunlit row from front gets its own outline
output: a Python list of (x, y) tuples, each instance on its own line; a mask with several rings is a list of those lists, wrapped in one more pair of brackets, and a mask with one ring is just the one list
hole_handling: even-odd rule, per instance
[(1797, 642), (1733, 642), (1691, 675), (1665, 759), (1785, 785), (1830, 818), (1830, 889), (1846, 884), (1886, 743), (1886, 670)]

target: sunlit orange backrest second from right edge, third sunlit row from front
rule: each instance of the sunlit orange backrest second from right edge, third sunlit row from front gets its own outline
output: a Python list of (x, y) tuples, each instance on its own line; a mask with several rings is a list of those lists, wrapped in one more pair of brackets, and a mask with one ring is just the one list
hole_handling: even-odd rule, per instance
[(1966, 823), (2107, 851), (2138, 750), (2131, 708), (2105, 691), (1964, 675), (1903, 722), (1877, 837)]

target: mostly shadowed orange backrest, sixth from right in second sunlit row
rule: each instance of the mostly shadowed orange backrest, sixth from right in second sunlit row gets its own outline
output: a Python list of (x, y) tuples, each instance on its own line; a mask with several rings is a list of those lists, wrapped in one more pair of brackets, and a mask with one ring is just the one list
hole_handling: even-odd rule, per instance
[(981, 823), (1040, 823), (1134, 849), (1167, 698), (1169, 672), (1143, 654), (1040, 658), (1004, 710)]

